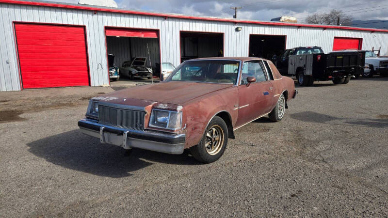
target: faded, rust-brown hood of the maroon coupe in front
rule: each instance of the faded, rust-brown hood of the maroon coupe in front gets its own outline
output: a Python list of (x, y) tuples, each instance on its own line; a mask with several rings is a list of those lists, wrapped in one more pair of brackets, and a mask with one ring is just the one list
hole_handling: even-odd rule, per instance
[(232, 86), (233, 84), (201, 82), (159, 82), (123, 89), (95, 99), (114, 104), (142, 107), (156, 102), (183, 105), (194, 98)]

